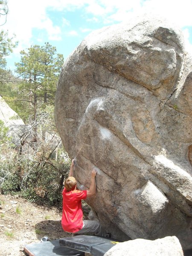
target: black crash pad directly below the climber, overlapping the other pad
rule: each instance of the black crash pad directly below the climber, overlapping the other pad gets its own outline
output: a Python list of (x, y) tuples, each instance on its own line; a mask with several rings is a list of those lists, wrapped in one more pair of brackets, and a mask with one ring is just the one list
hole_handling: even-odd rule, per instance
[(76, 250), (91, 253), (93, 256), (104, 255), (116, 243), (116, 240), (100, 236), (73, 236), (59, 239), (59, 244)]

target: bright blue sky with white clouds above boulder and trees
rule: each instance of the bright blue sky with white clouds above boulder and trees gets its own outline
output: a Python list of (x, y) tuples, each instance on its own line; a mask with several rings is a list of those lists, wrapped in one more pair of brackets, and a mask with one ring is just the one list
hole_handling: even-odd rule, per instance
[[(49, 42), (64, 60), (93, 30), (152, 14), (182, 29), (192, 54), (192, 0), (7, 0), (9, 13), (0, 29), (15, 35), (14, 52), (6, 57), (15, 70), (20, 51)], [(0, 16), (1, 24), (3, 17)]]

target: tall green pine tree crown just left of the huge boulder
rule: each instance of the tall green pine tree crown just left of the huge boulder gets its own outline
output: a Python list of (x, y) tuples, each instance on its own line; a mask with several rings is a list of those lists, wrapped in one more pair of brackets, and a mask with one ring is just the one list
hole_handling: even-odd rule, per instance
[[(21, 51), (21, 61), (16, 63), (17, 73), (23, 82), (18, 84), (17, 101), (28, 109), (34, 121), (38, 110), (54, 105), (58, 76), (63, 65), (63, 55), (56, 54), (56, 48), (49, 43), (40, 47), (34, 45)], [(20, 113), (19, 113), (20, 115)]]

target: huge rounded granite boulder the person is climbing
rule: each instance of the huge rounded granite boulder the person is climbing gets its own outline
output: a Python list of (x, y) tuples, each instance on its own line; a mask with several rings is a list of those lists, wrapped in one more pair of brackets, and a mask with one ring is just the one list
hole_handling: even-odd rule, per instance
[(92, 32), (61, 71), (55, 123), (79, 187), (113, 237), (192, 248), (192, 59), (180, 31), (143, 19)]

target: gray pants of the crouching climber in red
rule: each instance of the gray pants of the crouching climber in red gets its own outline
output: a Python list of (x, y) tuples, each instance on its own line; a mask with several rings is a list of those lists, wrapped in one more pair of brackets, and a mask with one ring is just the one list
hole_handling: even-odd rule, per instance
[(84, 233), (94, 233), (96, 236), (104, 236), (105, 230), (97, 221), (83, 221), (83, 227), (81, 230), (73, 233), (72, 236), (76, 236), (76, 234), (84, 234)]

